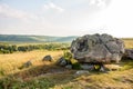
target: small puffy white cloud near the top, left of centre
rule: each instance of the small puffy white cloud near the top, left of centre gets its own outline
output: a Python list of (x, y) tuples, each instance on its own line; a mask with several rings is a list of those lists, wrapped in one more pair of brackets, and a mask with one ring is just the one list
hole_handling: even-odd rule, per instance
[(43, 6), (43, 9), (44, 9), (44, 10), (45, 10), (45, 9), (47, 9), (47, 10), (48, 10), (48, 9), (53, 9), (53, 10), (57, 10), (57, 11), (60, 11), (60, 12), (63, 12), (63, 11), (64, 11), (63, 8), (54, 4), (53, 2), (49, 2), (48, 4), (44, 4), (44, 6)]

